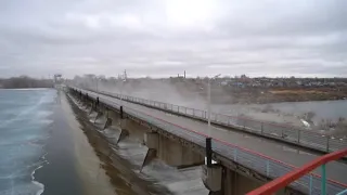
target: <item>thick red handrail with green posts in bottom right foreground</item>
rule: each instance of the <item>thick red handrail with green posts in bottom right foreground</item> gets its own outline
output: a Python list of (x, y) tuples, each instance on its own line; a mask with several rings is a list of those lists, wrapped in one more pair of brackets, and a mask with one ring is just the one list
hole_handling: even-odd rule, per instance
[[(282, 176), (262, 186), (259, 188), (256, 188), (252, 192), (249, 192), (247, 195), (268, 195), (268, 194), (274, 194), (279, 190), (291, 185), (293, 182), (297, 183), (297, 181), (303, 180), (307, 174), (309, 174), (310, 171), (314, 170), (318, 167), (321, 167), (322, 177), (320, 178), (320, 181), (317, 183), (311, 180), (312, 176), (310, 176), (310, 181), (307, 183), (309, 185), (308, 194), (334, 194), (334, 195), (346, 195), (347, 194), (347, 186), (345, 186), (345, 190), (342, 190), (339, 192), (331, 192), (326, 188), (326, 173), (325, 173), (325, 165), (330, 161), (337, 160), (342, 157), (347, 156), (347, 148), (340, 150), (327, 155), (324, 155), (322, 157), (319, 157), (314, 159), (311, 162), (308, 162), (307, 165), (297, 168), (285, 176)], [(316, 191), (316, 188), (319, 188), (319, 191)]]

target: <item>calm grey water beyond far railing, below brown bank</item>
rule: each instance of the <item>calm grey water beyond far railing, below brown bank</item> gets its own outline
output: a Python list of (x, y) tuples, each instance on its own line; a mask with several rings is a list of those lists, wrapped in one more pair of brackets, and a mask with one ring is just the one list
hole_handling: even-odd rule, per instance
[[(270, 106), (272, 110), (266, 110)], [(323, 120), (333, 122), (347, 118), (347, 101), (312, 101), (312, 102), (283, 102), (271, 104), (224, 104), (213, 105), (213, 112), (231, 116), (245, 115), (262, 121), (284, 122), (292, 126), (301, 126), (307, 113), (313, 113), (311, 120), (319, 125)]]

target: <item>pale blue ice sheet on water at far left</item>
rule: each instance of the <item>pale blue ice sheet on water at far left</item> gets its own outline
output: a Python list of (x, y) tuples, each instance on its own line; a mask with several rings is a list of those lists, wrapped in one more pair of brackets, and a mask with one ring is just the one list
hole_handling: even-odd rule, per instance
[(0, 194), (41, 194), (54, 90), (0, 90)]

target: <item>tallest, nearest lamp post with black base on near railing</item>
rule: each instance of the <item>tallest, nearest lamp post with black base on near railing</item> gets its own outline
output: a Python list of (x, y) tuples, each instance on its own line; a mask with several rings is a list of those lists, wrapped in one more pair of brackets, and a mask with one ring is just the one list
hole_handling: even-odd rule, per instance
[(213, 165), (213, 146), (211, 146), (211, 131), (210, 131), (210, 80), (219, 77), (220, 74), (208, 78), (207, 83), (207, 138), (206, 138), (206, 160), (207, 167)]

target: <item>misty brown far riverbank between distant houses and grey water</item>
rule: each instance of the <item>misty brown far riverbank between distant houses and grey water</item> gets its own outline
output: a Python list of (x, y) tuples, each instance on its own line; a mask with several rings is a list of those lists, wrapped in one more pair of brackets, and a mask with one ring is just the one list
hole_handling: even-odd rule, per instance
[[(91, 82), (92, 83), (92, 82)], [(81, 87), (95, 88), (85, 83)], [(175, 102), (190, 102), (192, 100), (206, 102), (207, 81), (194, 79), (129, 79), (126, 82), (101, 82), (99, 89), (105, 91), (133, 94), (144, 99), (157, 101), (170, 100)], [(307, 102), (347, 100), (346, 84), (332, 86), (229, 86), (214, 81), (210, 86), (211, 102), (216, 104), (269, 104), (280, 102)]]

